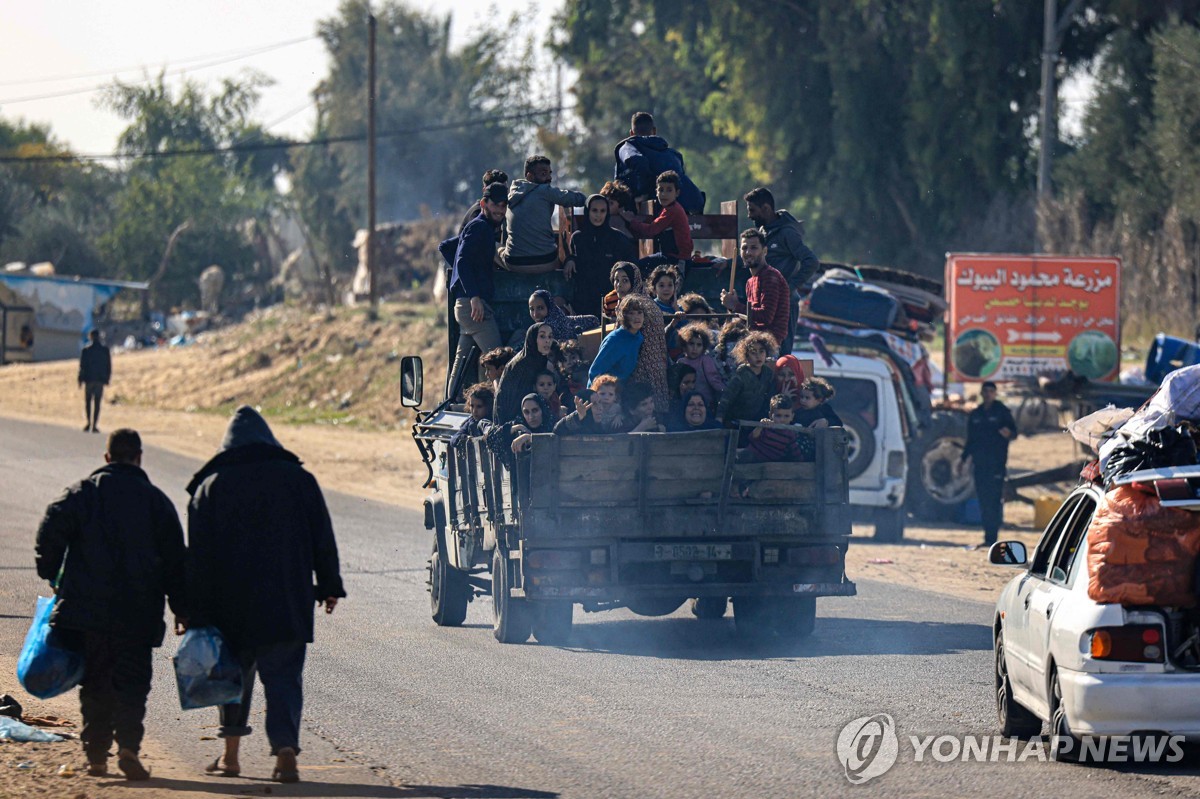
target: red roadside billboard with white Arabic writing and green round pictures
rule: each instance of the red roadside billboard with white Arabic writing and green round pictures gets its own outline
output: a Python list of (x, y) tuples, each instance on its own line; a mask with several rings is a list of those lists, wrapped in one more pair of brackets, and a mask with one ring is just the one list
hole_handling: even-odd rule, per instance
[(1002, 382), (1070, 370), (1112, 380), (1120, 281), (1120, 258), (948, 254), (947, 376)]

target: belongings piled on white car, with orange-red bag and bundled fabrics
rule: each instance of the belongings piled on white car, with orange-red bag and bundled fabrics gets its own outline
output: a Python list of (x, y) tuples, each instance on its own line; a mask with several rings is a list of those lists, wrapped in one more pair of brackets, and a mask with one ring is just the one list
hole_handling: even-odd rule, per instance
[(1106, 488), (1087, 529), (1087, 595), (1097, 602), (1194, 606), (1200, 512), (1164, 507), (1152, 485), (1122, 477), (1196, 465), (1200, 366), (1169, 374), (1136, 411), (1106, 408), (1070, 432), (1099, 452), (1091, 476)]

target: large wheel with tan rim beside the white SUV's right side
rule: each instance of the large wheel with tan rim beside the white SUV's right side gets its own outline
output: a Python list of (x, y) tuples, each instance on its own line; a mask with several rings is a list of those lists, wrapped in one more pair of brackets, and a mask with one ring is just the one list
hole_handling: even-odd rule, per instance
[(905, 507), (914, 518), (954, 521), (974, 495), (974, 476), (961, 459), (966, 443), (966, 414), (938, 410), (910, 444)]

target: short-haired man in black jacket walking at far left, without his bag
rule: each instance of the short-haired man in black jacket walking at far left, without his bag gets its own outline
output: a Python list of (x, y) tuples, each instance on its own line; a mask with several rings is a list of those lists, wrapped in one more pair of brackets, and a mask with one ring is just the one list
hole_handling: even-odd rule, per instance
[(84, 654), (79, 703), (88, 773), (107, 773), (115, 738), (118, 767), (131, 780), (145, 780), (138, 750), (150, 655), (167, 629), (163, 595), (176, 619), (184, 615), (184, 530), (175, 506), (142, 470), (136, 431), (115, 431), (104, 461), (46, 510), (37, 573), (58, 584), (52, 626)]

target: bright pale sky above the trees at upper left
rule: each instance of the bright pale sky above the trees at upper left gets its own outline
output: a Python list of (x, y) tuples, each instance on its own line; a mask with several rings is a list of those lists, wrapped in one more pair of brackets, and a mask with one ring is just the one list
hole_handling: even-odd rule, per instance
[[(408, 0), (426, 12), (452, 10), (451, 40), (514, 12), (539, 17), (563, 0)], [(168, 84), (190, 78), (215, 86), (246, 68), (276, 83), (263, 90), (256, 119), (280, 136), (312, 132), (312, 89), (328, 59), (317, 22), (337, 0), (34, 0), (0, 2), (0, 115), (49, 125), (80, 154), (108, 154), (126, 122), (96, 107), (114, 78), (139, 82), (166, 70)], [(298, 41), (302, 40), (302, 41)], [(185, 71), (182, 74), (175, 74)], [(59, 96), (48, 96), (59, 95)], [(38, 97), (35, 100), (35, 97)]]

